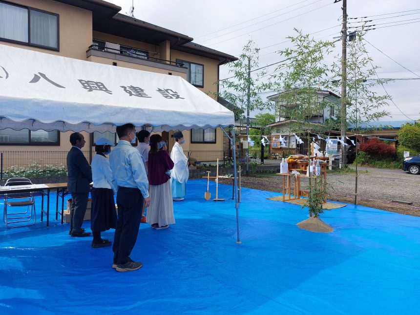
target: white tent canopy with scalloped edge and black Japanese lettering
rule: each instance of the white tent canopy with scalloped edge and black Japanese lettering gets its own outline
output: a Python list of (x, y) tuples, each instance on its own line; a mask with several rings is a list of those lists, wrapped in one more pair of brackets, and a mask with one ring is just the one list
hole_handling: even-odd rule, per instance
[(0, 129), (153, 131), (233, 126), (233, 112), (179, 76), (0, 44)]

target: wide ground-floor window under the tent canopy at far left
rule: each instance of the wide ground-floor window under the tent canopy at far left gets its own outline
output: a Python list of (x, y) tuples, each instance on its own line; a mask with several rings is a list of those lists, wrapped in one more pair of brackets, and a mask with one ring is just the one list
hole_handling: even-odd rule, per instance
[(60, 146), (60, 132), (29, 129), (0, 130), (0, 145), (3, 146)]

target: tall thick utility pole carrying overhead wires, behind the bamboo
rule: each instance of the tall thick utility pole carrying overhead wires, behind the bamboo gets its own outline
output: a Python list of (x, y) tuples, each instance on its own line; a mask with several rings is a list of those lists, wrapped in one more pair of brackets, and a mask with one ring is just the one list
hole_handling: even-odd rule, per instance
[[(347, 0), (343, 0), (343, 26), (341, 29), (341, 140), (344, 141), (346, 135), (346, 117), (347, 117)], [(341, 146), (341, 155), (343, 165), (346, 165), (346, 149)], [(341, 164), (340, 164), (341, 168)]]

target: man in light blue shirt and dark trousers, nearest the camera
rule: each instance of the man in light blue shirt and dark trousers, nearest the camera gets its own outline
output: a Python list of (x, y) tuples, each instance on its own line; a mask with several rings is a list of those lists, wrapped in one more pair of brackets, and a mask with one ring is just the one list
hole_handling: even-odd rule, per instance
[(119, 272), (134, 271), (141, 262), (131, 260), (130, 253), (137, 240), (142, 218), (143, 201), (150, 204), (146, 169), (139, 151), (131, 146), (136, 141), (134, 125), (117, 127), (118, 145), (109, 154), (112, 174), (118, 185), (118, 221), (115, 229), (112, 268)]

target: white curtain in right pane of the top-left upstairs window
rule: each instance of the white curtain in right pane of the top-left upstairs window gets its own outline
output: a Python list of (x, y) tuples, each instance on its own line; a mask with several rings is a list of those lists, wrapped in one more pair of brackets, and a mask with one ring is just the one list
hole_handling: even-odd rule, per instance
[(31, 43), (58, 48), (57, 16), (31, 10)]

